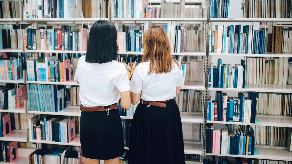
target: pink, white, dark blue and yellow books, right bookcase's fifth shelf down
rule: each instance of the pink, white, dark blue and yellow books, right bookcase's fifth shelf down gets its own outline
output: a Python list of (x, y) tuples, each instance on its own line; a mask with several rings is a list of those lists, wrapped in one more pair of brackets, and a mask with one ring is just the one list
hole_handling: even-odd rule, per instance
[(243, 128), (214, 128), (207, 124), (206, 153), (254, 155), (255, 135), (250, 126)]

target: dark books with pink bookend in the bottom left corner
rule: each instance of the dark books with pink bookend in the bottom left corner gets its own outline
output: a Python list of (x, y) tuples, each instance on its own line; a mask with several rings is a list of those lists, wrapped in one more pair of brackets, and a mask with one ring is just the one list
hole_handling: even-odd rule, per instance
[(0, 161), (12, 162), (18, 158), (18, 145), (13, 141), (0, 141)]

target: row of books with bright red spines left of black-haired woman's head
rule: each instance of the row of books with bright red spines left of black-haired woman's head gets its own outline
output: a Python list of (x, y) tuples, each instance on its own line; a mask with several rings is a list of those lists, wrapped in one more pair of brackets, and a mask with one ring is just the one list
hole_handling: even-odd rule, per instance
[(25, 28), (26, 50), (86, 50), (89, 29), (82, 25), (48, 27), (47, 29)]

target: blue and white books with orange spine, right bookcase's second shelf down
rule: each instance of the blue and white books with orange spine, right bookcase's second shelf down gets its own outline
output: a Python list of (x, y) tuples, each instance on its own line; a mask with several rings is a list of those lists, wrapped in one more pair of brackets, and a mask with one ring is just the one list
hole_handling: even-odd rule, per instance
[(253, 30), (253, 25), (215, 25), (209, 31), (209, 53), (263, 54), (266, 46), (266, 31)]

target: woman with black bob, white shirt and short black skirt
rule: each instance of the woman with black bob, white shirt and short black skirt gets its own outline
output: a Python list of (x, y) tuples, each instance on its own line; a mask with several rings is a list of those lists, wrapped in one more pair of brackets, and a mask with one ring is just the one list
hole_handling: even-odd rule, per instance
[(85, 164), (118, 164), (124, 153), (117, 103), (129, 109), (130, 86), (126, 68), (117, 60), (117, 30), (106, 20), (90, 30), (87, 52), (81, 56), (74, 80), (80, 86), (80, 142)]

